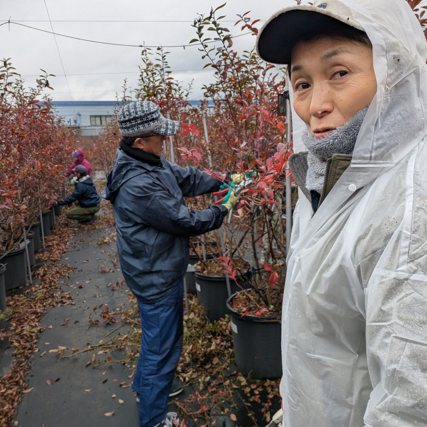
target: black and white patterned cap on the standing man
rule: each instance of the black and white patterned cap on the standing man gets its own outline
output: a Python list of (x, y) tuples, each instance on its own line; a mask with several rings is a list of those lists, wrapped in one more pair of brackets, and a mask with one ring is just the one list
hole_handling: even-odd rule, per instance
[(159, 106), (151, 101), (124, 105), (117, 114), (117, 124), (122, 136), (143, 136), (151, 132), (175, 135), (179, 130), (179, 122), (163, 117)]

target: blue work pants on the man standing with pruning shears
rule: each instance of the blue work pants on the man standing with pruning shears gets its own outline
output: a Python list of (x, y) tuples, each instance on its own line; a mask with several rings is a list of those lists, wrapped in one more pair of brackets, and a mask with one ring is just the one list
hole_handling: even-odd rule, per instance
[(153, 304), (138, 300), (142, 337), (132, 389), (140, 396), (140, 427), (153, 427), (167, 414), (182, 350), (183, 287), (181, 281), (173, 292)]

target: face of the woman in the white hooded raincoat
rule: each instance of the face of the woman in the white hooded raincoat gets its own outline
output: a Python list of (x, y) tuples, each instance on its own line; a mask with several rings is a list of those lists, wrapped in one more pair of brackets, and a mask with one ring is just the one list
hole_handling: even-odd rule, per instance
[(343, 126), (367, 107), (377, 91), (372, 49), (329, 37), (292, 50), (293, 107), (316, 138)]

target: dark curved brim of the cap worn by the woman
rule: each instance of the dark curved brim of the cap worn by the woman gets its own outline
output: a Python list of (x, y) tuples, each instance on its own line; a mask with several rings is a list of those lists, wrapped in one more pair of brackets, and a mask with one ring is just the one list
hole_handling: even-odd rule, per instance
[(264, 61), (289, 65), (292, 49), (298, 41), (310, 38), (310, 33), (328, 33), (331, 26), (337, 24), (364, 31), (354, 19), (337, 15), (328, 9), (313, 6), (287, 7), (264, 23), (258, 33), (255, 48)]

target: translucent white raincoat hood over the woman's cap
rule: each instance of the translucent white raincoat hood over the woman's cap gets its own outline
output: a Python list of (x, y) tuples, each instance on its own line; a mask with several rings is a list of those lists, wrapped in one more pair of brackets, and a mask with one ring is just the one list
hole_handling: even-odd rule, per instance
[[(372, 43), (377, 78), (377, 94), (360, 129), (351, 168), (388, 168), (427, 133), (427, 42), (405, 1), (339, 1), (351, 9)], [(291, 106), (292, 95), (290, 91)], [(306, 126), (293, 108), (292, 126), (294, 151), (306, 151), (301, 141)]]

